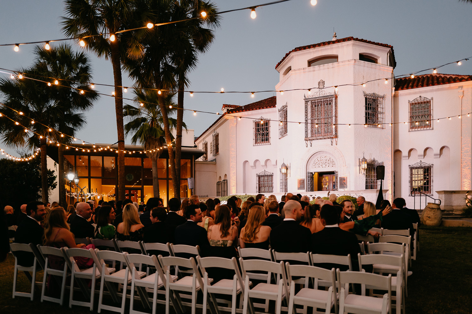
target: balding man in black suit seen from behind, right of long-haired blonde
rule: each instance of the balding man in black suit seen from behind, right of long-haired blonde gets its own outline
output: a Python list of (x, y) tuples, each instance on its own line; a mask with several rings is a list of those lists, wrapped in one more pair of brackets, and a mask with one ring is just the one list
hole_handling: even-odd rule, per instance
[(302, 205), (287, 201), (284, 205), (284, 220), (270, 231), (270, 246), (280, 253), (308, 252), (312, 246), (312, 232), (299, 224)]

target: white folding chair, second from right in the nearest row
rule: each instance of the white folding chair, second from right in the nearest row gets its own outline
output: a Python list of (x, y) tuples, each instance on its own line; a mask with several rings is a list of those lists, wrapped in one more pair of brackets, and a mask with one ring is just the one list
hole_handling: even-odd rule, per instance
[[(294, 306), (303, 305), (313, 307), (313, 313), (319, 313), (317, 308), (324, 308), (326, 314), (331, 313), (331, 308), (334, 306), (334, 311), (337, 314), (337, 293), (335, 270), (327, 270), (315, 266), (307, 265), (290, 265), (285, 263), (287, 269), (287, 280), (290, 283), (290, 294), (288, 301), (288, 313), (294, 313)], [(304, 287), (295, 294), (295, 280), (293, 276), (302, 276), (304, 280)], [(313, 288), (309, 288), (310, 281), (313, 280)], [(331, 281), (331, 286), (328, 291), (318, 289), (318, 281)]]

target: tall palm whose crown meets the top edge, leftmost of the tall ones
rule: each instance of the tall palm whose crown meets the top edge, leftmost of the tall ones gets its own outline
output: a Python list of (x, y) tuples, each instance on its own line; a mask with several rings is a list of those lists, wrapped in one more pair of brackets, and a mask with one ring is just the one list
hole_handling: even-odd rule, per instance
[[(129, 28), (130, 25), (141, 24), (142, 14), (146, 18), (146, 12), (135, 11), (135, 1), (131, 0), (66, 0), (67, 17), (62, 17), (62, 30), (68, 36), (84, 37), (86, 48), (93, 51), (99, 58), (111, 60), (113, 78), (115, 83), (115, 113), (117, 119), (118, 135), (118, 199), (125, 199), (125, 134), (123, 128), (123, 92), (121, 87), (121, 62), (125, 55), (139, 55), (142, 48), (139, 44), (131, 43), (124, 47), (120, 30)], [(113, 34), (114, 41), (105, 38), (101, 34)]]

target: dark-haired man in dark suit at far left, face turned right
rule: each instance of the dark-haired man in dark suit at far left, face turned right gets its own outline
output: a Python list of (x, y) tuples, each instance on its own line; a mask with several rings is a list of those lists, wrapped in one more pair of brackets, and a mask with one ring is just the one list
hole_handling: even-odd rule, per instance
[[(89, 207), (90, 208), (90, 207)], [(26, 212), (29, 213), (23, 221), (21, 221), (15, 233), (15, 243), (30, 244), (34, 246), (42, 245), (44, 238), (44, 229), (41, 227), (41, 222), (44, 220), (46, 210), (42, 202), (30, 202), (26, 205)], [(34, 262), (34, 255), (30, 252), (17, 252), (18, 264), (31, 267)]]

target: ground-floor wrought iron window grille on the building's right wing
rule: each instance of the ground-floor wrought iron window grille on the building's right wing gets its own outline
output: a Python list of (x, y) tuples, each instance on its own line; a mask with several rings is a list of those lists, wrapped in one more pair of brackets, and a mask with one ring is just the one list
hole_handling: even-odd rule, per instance
[(410, 195), (433, 195), (433, 164), (419, 161), (408, 165), (410, 169)]

